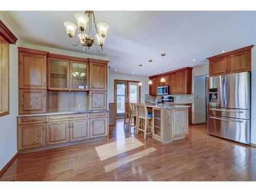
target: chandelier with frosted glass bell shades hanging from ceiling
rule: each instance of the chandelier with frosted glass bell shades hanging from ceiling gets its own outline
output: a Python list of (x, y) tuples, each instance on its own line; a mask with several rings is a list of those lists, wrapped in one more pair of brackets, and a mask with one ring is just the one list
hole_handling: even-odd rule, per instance
[[(76, 44), (73, 44), (72, 37), (75, 35), (75, 31), (77, 29), (77, 26), (72, 22), (64, 22), (64, 26), (66, 27), (67, 35), (70, 37), (70, 43), (73, 46), (77, 46), (79, 43), (83, 46), (83, 51), (86, 52), (87, 49), (90, 49), (92, 45), (94, 44), (96, 47), (96, 50), (98, 52), (102, 51), (102, 47), (104, 45), (106, 32), (109, 29), (109, 25), (106, 23), (98, 23), (95, 24), (95, 17), (93, 11), (84, 11), (84, 14), (82, 13), (76, 13), (75, 18), (77, 20), (77, 26), (79, 28), (80, 33), (78, 34), (79, 40)], [(89, 22), (89, 34), (86, 34), (86, 27), (87, 22)], [(92, 35), (92, 22), (94, 24), (94, 27), (96, 29), (96, 42)], [(99, 47), (99, 49), (98, 49)]]

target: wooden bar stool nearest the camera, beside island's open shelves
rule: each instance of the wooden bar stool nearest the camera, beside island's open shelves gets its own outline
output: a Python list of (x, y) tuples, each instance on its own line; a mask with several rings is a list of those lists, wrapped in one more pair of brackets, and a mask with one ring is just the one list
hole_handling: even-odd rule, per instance
[[(138, 135), (139, 130), (144, 132), (144, 139), (146, 138), (146, 135), (151, 134), (152, 133), (152, 129), (153, 127), (152, 125), (152, 113), (148, 113), (147, 112), (147, 108), (145, 104), (138, 104), (138, 109), (139, 109), (139, 117), (138, 117), (138, 128), (137, 128), (137, 132), (136, 135)], [(145, 121), (145, 123), (143, 123), (143, 120)], [(144, 129), (142, 127), (142, 125), (144, 126)]]

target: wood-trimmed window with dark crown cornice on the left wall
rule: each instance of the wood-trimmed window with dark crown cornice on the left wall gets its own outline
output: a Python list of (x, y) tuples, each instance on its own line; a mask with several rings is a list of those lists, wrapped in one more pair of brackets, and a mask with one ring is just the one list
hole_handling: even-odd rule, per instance
[(0, 116), (10, 113), (9, 44), (16, 44), (16, 41), (14, 34), (0, 20)]

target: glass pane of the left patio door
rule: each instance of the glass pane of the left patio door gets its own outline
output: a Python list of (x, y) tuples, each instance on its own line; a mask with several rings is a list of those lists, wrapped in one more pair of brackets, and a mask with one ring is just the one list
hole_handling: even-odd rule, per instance
[(126, 101), (126, 82), (117, 82), (116, 83), (116, 114), (117, 116), (124, 115), (124, 107)]

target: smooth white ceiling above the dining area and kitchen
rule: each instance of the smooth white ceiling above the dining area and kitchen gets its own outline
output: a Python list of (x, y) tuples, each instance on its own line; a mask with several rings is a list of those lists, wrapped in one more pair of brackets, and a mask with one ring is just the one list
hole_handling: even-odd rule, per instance
[[(82, 52), (82, 46), (70, 45), (63, 26), (76, 23), (77, 12), (83, 11), (1, 13), (27, 44)], [(148, 76), (148, 59), (153, 59), (155, 75), (203, 65), (222, 50), (256, 44), (255, 11), (95, 11), (95, 18), (110, 29), (103, 51), (91, 48), (89, 53), (108, 57), (112, 73), (138, 75), (142, 64), (141, 75)], [(77, 33), (73, 38), (78, 39)], [(163, 70), (161, 53), (166, 53)]]

